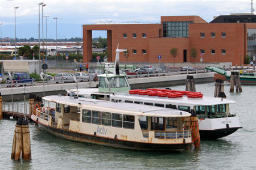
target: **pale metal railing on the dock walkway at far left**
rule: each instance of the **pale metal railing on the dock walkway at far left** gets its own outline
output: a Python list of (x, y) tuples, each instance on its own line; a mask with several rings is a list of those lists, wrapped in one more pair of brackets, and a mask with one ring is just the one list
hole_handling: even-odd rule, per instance
[[(33, 108), (34, 109), (34, 108)], [(3, 102), (3, 111), (13, 112), (13, 113), (25, 113), (30, 114), (31, 107), (29, 104), (24, 103), (12, 103), (12, 102)]]

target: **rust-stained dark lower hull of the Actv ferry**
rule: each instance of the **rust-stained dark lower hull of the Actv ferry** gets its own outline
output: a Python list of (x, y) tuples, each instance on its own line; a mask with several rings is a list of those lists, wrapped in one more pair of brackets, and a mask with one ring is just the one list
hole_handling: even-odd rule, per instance
[[(32, 120), (34, 120), (32, 118)], [(34, 120), (35, 121), (35, 120)], [(39, 128), (56, 135), (57, 137), (69, 139), (71, 141), (91, 143), (94, 145), (110, 146), (115, 148), (123, 148), (129, 150), (142, 151), (160, 151), (160, 152), (181, 152), (184, 149), (190, 148), (192, 143), (178, 143), (178, 144), (158, 144), (158, 143), (143, 143), (134, 141), (125, 141), (121, 139), (105, 138), (97, 135), (81, 134), (69, 130), (57, 129), (52, 126), (41, 124), (38, 121)]]

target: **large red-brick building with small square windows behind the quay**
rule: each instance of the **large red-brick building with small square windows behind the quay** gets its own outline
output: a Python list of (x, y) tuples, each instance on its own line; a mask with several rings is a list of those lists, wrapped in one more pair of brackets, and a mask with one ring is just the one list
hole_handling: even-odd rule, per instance
[[(83, 25), (84, 61), (92, 58), (92, 30), (107, 30), (108, 61), (115, 49), (126, 48), (122, 62), (174, 62), (170, 50), (177, 48), (175, 62), (232, 62), (240, 65), (249, 55), (255, 59), (256, 23), (207, 23), (199, 16), (161, 16), (160, 24)], [(191, 57), (196, 49), (196, 58)], [(254, 58), (253, 58), (254, 57)]]

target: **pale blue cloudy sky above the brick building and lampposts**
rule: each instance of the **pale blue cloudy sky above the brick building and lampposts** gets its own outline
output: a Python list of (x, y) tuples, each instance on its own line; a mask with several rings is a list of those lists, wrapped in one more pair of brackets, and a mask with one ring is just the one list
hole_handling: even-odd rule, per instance
[[(14, 7), (19, 6), (16, 9), (16, 37), (38, 39), (40, 2), (46, 4), (43, 14), (49, 15), (47, 37), (52, 39), (56, 38), (56, 20), (53, 17), (58, 18), (57, 37), (69, 39), (81, 37), (82, 24), (160, 23), (160, 16), (177, 15), (199, 15), (210, 22), (213, 16), (251, 11), (251, 0), (0, 0), (2, 37), (14, 38)], [(40, 16), (42, 26), (42, 7)], [(93, 31), (93, 37), (105, 35), (105, 31)]]

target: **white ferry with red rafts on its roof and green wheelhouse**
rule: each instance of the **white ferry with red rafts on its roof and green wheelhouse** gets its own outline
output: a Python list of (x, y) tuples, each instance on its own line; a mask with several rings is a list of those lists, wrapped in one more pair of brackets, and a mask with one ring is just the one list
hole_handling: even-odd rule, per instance
[[(195, 112), (199, 120), (200, 137), (207, 139), (217, 139), (226, 137), (242, 128), (238, 121), (238, 116), (230, 113), (229, 105), (236, 103), (233, 100), (203, 96), (200, 93), (189, 93), (179, 91), (179, 97), (176, 97), (174, 91), (169, 91), (171, 97), (166, 95), (147, 95), (147, 92), (139, 95), (130, 91), (130, 85), (125, 75), (119, 74), (119, 53), (126, 49), (116, 49), (115, 66), (110, 70), (112, 74), (98, 75), (98, 88), (84, 88), (67, 90), (68, 95), (77, 95), (79, 97), (110, 100), (124, 103), (137, 103), (145, 105), (154, 105), (156, 107), (175, 108), (181, 111)], [(129, 94), (129, 91), (131, 94)], [(133, 90), (132, 90), (133, 91)], [(167, 90), (168, 91), (168, 90)], [(196, 98), (193, 98), (194, 96)]]

